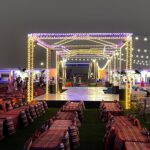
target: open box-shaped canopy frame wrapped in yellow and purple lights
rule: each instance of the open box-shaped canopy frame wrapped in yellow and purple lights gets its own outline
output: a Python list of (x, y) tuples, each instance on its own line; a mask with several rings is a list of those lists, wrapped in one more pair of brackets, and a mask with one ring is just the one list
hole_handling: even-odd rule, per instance
[[(56, 89), (59, 79), (59, 64), (62, 63), (63, 75), (66, 78), (66, 61), (68, 58), (92, 58), (96, 71), (96, 59), (105, 58), (101, 69), (108, 70), (108, 80), (115, 82), (112, 74), (121, 72), (121, 51), (126, 51), (126, 108), (130, 108), (132, 87), (132, 33), (31, 33), (28, 34), (28, 101), (34, 99), (34, 47), (39, 45), (46, 50), (46, 95), (49, 94), (49, 67), (52, 52), (56, 53)], [(118, 64), (118, 65), (117, 65)], [(118, 68), (117, 68), (118, 67)]]

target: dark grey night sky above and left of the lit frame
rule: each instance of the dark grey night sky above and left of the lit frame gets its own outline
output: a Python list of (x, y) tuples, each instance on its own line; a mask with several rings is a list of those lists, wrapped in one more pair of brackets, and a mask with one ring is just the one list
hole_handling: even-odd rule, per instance
[(0, 68), (25, 67), (30, 32), (150, 32), (150, 0), (1, 0)]

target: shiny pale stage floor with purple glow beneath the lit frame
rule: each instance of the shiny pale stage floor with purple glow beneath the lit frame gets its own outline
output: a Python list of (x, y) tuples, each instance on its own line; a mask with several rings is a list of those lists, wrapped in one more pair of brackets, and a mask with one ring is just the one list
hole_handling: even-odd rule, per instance
[[(69, 87), (63, 93), (49, 94), (48, 100), (57, 101), (113, 101), (119, 100), (118, 94), (105, 94), (104, 87)], [(35, 100), (46, 100), (46, 95), (41, 95)]]

